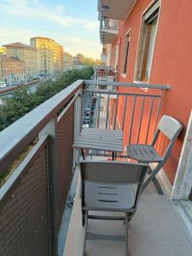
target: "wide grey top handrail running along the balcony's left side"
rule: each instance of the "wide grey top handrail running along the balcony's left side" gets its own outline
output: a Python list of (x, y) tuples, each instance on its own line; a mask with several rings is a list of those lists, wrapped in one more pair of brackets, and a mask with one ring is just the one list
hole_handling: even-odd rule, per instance
[(9, 167), (50, 119), (56, 118), (59, 110), (83, 84), (84, 80), (77, 80), (0, 132), (0, 173)]

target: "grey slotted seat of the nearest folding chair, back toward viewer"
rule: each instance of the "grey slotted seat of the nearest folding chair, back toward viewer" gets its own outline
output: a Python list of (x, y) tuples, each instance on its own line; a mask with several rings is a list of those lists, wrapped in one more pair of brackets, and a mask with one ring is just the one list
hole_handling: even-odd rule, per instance
[(84, 209), (129, 212), (134, 207), (135, 191), (130, 184), (84, 183)]

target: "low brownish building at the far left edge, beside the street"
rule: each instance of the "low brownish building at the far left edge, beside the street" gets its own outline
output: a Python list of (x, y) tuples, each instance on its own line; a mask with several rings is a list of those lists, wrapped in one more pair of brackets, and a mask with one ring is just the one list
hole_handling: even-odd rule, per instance
[(6, 83), (24, 80), (26, 78), (26, 65), (24, 61), (20, 61), (7, 55), (0, 55), (0, 81)]

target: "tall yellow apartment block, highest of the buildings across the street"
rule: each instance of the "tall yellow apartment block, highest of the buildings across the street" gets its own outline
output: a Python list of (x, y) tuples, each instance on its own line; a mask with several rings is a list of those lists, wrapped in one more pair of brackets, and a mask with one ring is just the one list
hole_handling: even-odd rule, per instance
[(63, 67), (63, 47), (51, 38), (30, 38), (32, 47), (38, 50), (40, 73), (59, 73)]

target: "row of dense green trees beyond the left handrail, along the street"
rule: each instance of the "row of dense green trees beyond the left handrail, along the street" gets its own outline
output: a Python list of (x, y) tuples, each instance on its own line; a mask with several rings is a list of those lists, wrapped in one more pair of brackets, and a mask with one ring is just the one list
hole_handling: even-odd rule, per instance
[(85, 67), (81, 70), (73, 69), (63, 73), (56, 81), (43, 82), (34, 93), (29, 93), (26, 88), (15, 90), (12, 97), (3, 98), (3, 105), (0, 106), (0, 131), (68, 85), (73, 84), (77, 79), (90, 79), (92, 74), (92, 67)]

